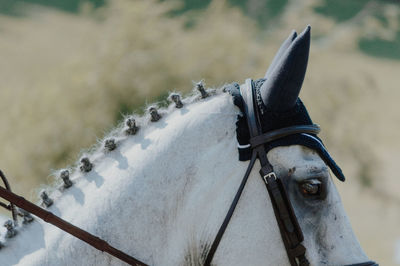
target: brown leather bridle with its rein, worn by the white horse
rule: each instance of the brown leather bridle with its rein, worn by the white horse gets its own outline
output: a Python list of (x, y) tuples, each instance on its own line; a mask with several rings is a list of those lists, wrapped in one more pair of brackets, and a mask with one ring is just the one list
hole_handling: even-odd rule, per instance
[[(247, 167), (246, 173), (240, 183), (239, 189), (230, 205), (228, 213), (218, 230), (218, 233), (211, 245), (208, 252), (204, 265), (211, 265), (211, 261), (214, 254), (218, 248), (218, 245), (223, 237), (223, 234), (232, 218), (233, 212), (235, 211), (236, 205), (239, 202), (240, 196), (246, 185), (247, 179), (253, 169), (254, 163), (257, 158), (260, 161), (261, 169), (259, 171), (271, 198), (272, 206), (274, 209), (275, 217), (278, 222), (279, 230), (282, 236), (282, 240), (286, 249), (286, 253), (289, 258), (289, 262), (292, 266), (306, 266), (309, 262), (306, 258), (306, 248), (303, 246), (302, 242), (304, 240), (302, 230), (297, 221), (297, 217), (294, 213), (292, 204), (287, 195), (286, 189), (282, 183), (282, 180), (274, 172), (272, 165), (269, 163), (267, 158), (267, 152), (264, 144), (271, 141), (299, 133), (306, 134), (318, 134), (320, 128), (318, 125), (297, 125), (292, 127), (281, 128), (278, 130), (273, 130), (267, 133), (262, 133), (261, 131), (261, 121), (260, 114), (255, 101), (255, 90), (254, 84), (251, 79), (247, 79), (245, 85), (240, 88), (241, 96), (244, 101), (245, 115), (247, 118), (248, 128), (250, 131), (250, 146), (252, 148), (252, 156)], [(0, 197), (6, 199), (10, 202), (9, 206), (1, 205), (7, 209), (12, 210), (14, 221), (16, 221), (15, 207), (17, 207), (30, 212), (44, 221), (51, 223), (65, 232), (74, 235), (75, 237), (85, 241), (89, 245), (99, 249), (101, 251), (107, 252), (110, 255), (119, 258), (120, 260), (130, 264), (130, 265), (143, 265), (147, 264), (141, 262), (140, 260), (129, 256), (128, 254), (110, 246), (106, 241), (96, 237), (79, 227), (76, 227), (60, 217), (48, 212), (35, 204), (25, 200), (23, 197), (18, 196), (11, 192), (11, 188), (5, 179), (5, 176), (0, 171), (0, 175), (5, 182), (6, 188), (0, 186)], [(348, 266), (378, 266), (373, 261), (368, 261), (364, 263), (351, 264)]]

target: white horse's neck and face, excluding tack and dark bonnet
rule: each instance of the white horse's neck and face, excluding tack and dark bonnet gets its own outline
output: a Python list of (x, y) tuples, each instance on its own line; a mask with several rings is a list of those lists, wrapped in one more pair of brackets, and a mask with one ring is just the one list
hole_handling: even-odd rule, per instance
[[(303, 38), (309, 38), (306, 31)], [(295, 45), (295, 34), (288, 40), (279, 53)], [(279, 53), (272, 68), (285, 63)], [(136, 117), (140, 129), (135, 135), (116, 129), (116, 148), (110, 148), (111, 141), (108, 150), (99, 147), (88, 155), (93, 168), (84, 172), (77, 166), (71, 173), (73, 185), (50, 193), (54, 204), (49, 211), (146, 264), (203, 265), (248, 165), (238, 161), (235, 123), (241, 112), (232, 96), (211, 89), (207, 94), (182, 100), (182, 108), (171, 104), (160, 110), (157, 122), (149, 122), (150, 114)], [(157, 120), (156, 111), (152, 114)], [(280, 146), (268, 159), (277, 175), (286, 178), (311, 265), (368, 261), (318, 153), (301, 145)], [(325, 197), (302, 194), (297, 184), (304, 180), (322, 182)], [(0, 265), (125, 265), (38, 218), (17, 231), (9, 239), (2, 232)], [(289, 265), (256, 170), (212, 264)]]

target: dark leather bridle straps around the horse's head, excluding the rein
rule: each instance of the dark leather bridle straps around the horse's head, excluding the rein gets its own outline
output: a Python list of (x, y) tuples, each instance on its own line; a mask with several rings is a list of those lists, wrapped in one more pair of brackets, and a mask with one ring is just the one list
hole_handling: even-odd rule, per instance
[(222, 236), (232, 218), (233, 212), (237, 206), (239, 198), (246, 185), (247, 179), (251, 173), (256, 159), (258, 158), (261, 164), (259, 171), (271, 198), (272, 206), (276, 220), (278, 222), (279, 230), (282, 236), (283, 243), (292, 266), (305, 266), (309, 265), (305, 257), (306, 248), (301, 244), (303, 242), (303, 233), (297, 221), (293, 207), (290, 203), (286, 189), (282, 180), (275, 174), (272, 165), (267, 158), (267, 152), (264, 148), (265, 143), (283, 138), (289, 135), (298, 133), (318, 134), (320, 128), (318, 125), (300, 125), (274, 130), (265, 134), (261, 132), (260, 115), (258, 108), (255, 106), (255, 95), (253, 90), (253, 81), (247, 79), (245, 86), (240, 88), (240, 92), (244, 101), (245, 115), (247, 124), (250, 131), (250, 145), (252, 148), (252, 156), (246, 173), (242, 179), (238, 191), (231, 203), (228, 213), (211, 245), (210, 251), (207, 255), (205, 265), (209, 266), (222, 239)]

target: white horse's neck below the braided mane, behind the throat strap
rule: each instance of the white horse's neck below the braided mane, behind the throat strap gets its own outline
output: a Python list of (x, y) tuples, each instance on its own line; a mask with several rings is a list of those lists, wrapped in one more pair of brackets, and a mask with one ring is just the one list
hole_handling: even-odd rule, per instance
[[(95, 152), (94, 169), (77, 171), (73, 187), (52, 193), (56, 200), (50, 211), (150, 264), (196, 264), (209, 248), (247, 165), (237, 161), (237, 113), (231, 97), (220, 95), (165, 115), (117, 150)], [(246, 190), (252, 190), (252, 182)], [(245, 191), (238, 213), (254, 209), (246, 206), (251, 194)], [(240, 217), (232, 219), (221, 250), (232, 246), (238, 226), (239, 231), (245, 228)], [(10, 265), (119, 263), (105, 256), (42, 221), (20, 228), (0, 251), (0, 261)]]

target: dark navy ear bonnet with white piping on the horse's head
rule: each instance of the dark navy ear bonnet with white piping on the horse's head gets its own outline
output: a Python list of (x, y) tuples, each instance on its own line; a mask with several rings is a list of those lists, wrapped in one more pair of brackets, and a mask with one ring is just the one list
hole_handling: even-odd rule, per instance
[[(296, 125), (313, 125), (306, 107), (298, 98), (307, 69), (310, 29), (308, 26), (299, 36), (293, 31), (281, 45), (265, 77), (253, 81), (257, 98), (256, 108), (259, 108), (261, 114), (263, 133)], [(239, 84), (231, 84), (228, 91), (233, 96), (234, 104), (244, 113)], [(236, 134), (239, 160), (250, 160), (250, 133), (245, 116), (238, 116)], [(278, 146), (290, 145), (302, 145), (315, 150), (336, 177), (341, 181), (345, 180), (340, 167), (332, 159), (321, 139), (314, 134), (289, 135), (265, 144), (265, 148), (268, 152)]]

